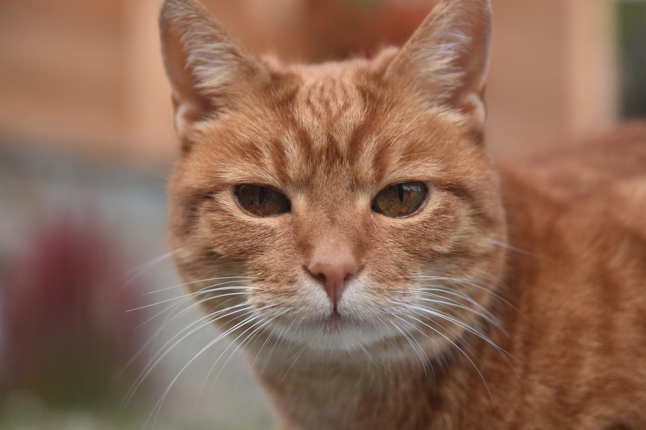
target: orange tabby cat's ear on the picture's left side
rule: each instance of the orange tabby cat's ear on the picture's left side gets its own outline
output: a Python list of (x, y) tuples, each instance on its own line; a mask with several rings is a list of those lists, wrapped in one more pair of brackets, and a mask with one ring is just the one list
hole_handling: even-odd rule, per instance
[(196, 121), (231, 108), (234, 94), (267, 76), (255, 57), (194, 0), (166, 0), (160, 33), (180, 136)]

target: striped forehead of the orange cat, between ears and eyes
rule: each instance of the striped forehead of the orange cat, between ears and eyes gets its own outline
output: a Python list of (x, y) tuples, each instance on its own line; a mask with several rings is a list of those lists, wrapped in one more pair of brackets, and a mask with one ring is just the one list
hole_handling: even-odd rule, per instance
[(400, 103), (364, 66), (295, 68), (290, 85), (211, 123), (196, 159), (218, 181), (280, 189), (430, 178), (445, 161), (446, 141), (457, 139), (453, 127), (428, 105)]

